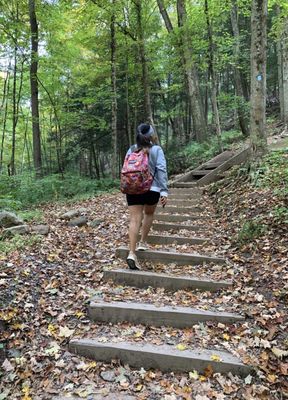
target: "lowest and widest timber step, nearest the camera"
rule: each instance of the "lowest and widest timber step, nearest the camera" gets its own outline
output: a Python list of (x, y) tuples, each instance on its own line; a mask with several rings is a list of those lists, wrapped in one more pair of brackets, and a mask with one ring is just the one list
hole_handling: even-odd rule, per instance
[[(246, 376), (250, 368), (238, 358), (219, 350), (178, 350), (169, 345), (134, 344), (128, 342), (103, 343), (96, 339), (75, 339), (69, 343), (69, 350), (78, 355), (110, 363), (120, 360), (131, 367), (155, 368), (161, 371), (190, 372), (194, 369), (203, 373), (208, 366), (213, 372)], [(216, 359), (216, 360), (215, 360)], [(218, 361), (220, 360), (220, 361)]]

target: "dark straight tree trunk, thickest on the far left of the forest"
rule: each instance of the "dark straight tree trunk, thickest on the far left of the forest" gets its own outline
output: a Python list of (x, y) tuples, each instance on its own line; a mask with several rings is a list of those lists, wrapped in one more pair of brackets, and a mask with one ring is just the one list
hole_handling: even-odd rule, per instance
[(42, 173), (41, 160), (41, 132), (39, 123), (39, 99), (38, 99), (38, 23), (35, 12), (35, 0), (29, 0), (29, 18), (31, 31), (31, 64), (30, 64), (30, 87), (32, 108), (32, 131), (33, 131), (33, 161), (36, 176)]

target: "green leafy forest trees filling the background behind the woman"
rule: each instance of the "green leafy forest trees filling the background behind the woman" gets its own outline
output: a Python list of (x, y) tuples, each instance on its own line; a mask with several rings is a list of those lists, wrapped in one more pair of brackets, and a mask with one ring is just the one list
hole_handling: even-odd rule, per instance
[[(229, 130), (247, 138), (252, 5), (1, 0), (1, 174), (117, 177), (143, 121), (171, 154), (214, 139), (220, 151)], [(265, 106), (287, 123), (287, 2), (262, 11)]]

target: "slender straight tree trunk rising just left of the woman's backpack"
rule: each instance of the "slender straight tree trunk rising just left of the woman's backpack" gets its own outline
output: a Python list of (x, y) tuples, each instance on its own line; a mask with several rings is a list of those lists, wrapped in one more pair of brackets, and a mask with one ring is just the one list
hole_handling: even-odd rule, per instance
[(116, 86), (116, 35), (115, 35), (115, 1), (112, 1), (112, 14), (110, 24), (111, 34), (111, 131), (112, 131), (112, 178), (117, 178), (117, 86)]

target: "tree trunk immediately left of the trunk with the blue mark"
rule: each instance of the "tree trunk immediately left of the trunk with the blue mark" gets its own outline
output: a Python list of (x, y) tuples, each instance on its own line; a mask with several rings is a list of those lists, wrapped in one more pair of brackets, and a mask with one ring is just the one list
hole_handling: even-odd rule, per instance
[(239, 119), (240, 129), (244, 136), (249, 136), (249, 121), (248, 116), (245, 113), (245, 97), (244, 97), (244, 88), (242, 86), (243, 79), (241, 77), (241, 72), (239, 69), (239, 60), (240, 60), (240, 33), (238, 26), (238, 6), (237, 0), (232, 0), (231, 11), (230, 11), (231, 25), (234, 36), (234, 79), (235, 79), (235, 87), (236, 87), (236, 96), (237, 99), (237, 113)]

